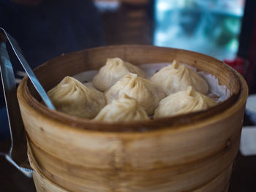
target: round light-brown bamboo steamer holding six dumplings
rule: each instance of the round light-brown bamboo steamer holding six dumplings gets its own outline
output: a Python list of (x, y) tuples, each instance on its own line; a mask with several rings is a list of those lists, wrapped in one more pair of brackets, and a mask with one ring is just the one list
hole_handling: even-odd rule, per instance
[(113, 57), (136, 65), (176, 59), (214, 74), (230, 97), (173, 118), (96, 123), (48, 110), (26, 77), (18, 101), (37, 191), (227, 191), (248, 95), (244, 78), (207, 55), (146, 45), (69, 53), (34, 72), (48, 91), (65, 76), (97, 70)]

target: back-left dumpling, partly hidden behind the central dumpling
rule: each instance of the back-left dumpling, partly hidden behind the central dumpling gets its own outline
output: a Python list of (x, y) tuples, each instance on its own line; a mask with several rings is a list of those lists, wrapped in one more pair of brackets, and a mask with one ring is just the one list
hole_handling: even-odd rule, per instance
[(108, 58), (105, 66), (102, 66), (99, 73), (94, 77), (93, 85), (99, 91), (106, 91), (129, 72), (138, 74), (140, 77), (146, 77), (146, 74), (138, 66), (124, 62), (121, 58)]

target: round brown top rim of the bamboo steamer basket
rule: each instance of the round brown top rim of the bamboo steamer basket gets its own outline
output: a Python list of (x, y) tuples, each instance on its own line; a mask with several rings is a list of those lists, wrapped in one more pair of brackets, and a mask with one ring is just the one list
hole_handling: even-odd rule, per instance
[[(236, 72), (236, 70), (231, 68), (230, 66), (227, 66), (227, 64), (224, 64), (222, 61), (219, 61), (216, 58), (212, 58), (202, 53), (195, 53), (189, 50), (179, 50), (179, 49), (167, 48), (167, 47), (156, 47), (151, 45), (111, 45), (106, 47), (94, 47), (86, 50), (80, 50), (75, 53), (67, 53), (66, 55), (72, 56), (72, 54), (83, 53), (84, 51), (88, 52), (88, 51), (100, 50), (100, 49), (110, 49), (110, 48), (134, 49), (136, 47), (146, 48), (146, 49), (154, 48), (154, 49), (167, 50), (167, 51), (172, 50), (172, 51), (178, 51), (179, 53), (184, 52), (189, 54), (197, 54), (203, 57), (211, 58), (217, 61), (219, 64), (222, 64), (223, 66), (227, 67), (227, 69), (233, 73), (233, 75), (238, 79), (238, 82), (240, 84), (239, 90), (237, 93), (234, 93), (233, 95), (231, 95), (230, 98), (228, 98), (227, 100), (223, 101), (220, 104), (217, 104), (217, 106), (215, 107), (209, 108), (208, 110), (191, 112), (184, 115), (176, 115), (170, 118), (158, 118), (155, 120), (136, 121), (133, 123), (91, 122), (90, 120), (73, 117), (71, 115), (66, 115), (62, 112), (49, 110), (37, 99), (35, 99), (34, 96), (31, 95), (29, 91), (29, 86), (31, 85), (31, 83), (29, 83), (30, 81), (28, 81), (27, 77), (25, 77), (20, 83), (18, 87), (18, 92), (21, 91), (20, 89), (23, 89), (21, 95), (24, 97), (27, 104), (29, 104), (33, 108), (33, 110), (37, 110), (37, 112), (41, 113), (42, 115), (45, 115), (46, 117), (52, 120), (55, 120), (59, 123), (67, 123), (69, 126), (72, 126), (72, 128), (82, 128), (82, 129), (91, 130), (91, 131), (103, 131), (103, 132), (144, 132), (144, 131), (158, 130), (159, 128), (179, 128), (181, 126), (192, 125), (195, 123), (199, 123), (199, 121), (203, 122), (204, 120), (217, 117), (219, 115), (219, 112), (224, 113), (227, 110), (232, 111), (233, 109), (236, 108), (236, 105), (245, 103), (246, 97), (248, 95), (248, 88), (241, 74)], [(61, 57), (63, 56), (65, 55), (61, 55)], [(53, 58), (50, 61), (54, 61), (58, 58), (59, 57)], [(37, 71), (41, 67), (47, 65), (48, 62), (37, 67), (36, 69), (34, 69), (34, 71)], [(18, 97), (19, 95), (20, 94), (18, 94)]]

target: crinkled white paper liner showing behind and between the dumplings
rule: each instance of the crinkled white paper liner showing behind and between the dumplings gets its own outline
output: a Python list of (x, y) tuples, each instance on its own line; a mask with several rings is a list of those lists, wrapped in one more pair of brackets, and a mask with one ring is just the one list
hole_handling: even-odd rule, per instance
[[(152, 77), (156, 72), (158, 72), (163, 67), (170, 65), (171, 63), (158, 63), (158, 64), (143, 64), (140, 65), (140, 69), (145, 72), (146, 77), (149, 79)], [(189, 66), (187, 64), (184, 64), (185, 66), (189, 67), (190, 69), (193, 69), (195, 72), (197, 72), (197, 69), (195, 69), (192, 66)], [(79, 74), (75, 74), (73, 77), (80, 82), (83, 83), (83, 85), (86, 85), (88, 87), (93, 87), (92, 80), (94, 76), (98, 73), (98, 71), (91, 70), (86, 72), (81, 72)], [(208, 74), (206, 72), (197, 72), (203, 79), (208, 82), (209, 85), (209, 92), (207, 96), (210, 96), (212, 99), (215, 99), (217, 102), (225, 101), (230, 96), (230, 91), (227, 89), (225, 85), (219, 85), (219, 80), (217, 77), (215, 77), (212, 74)]]

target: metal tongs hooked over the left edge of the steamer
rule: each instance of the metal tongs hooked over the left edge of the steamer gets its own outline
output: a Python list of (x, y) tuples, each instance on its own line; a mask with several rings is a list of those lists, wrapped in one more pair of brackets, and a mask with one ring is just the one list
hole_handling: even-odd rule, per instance
[(15, 75), (7, 52), (7, 42), (10, 43), (20, 64), (23, 66), (23, 69), (25, 69), (26, 74), (29, 76), (29, 79), (47, 107), (50, 110), (55, 110), (55, 107), (50, 101), (44, 88), (42, 88), (42, 85), (37, 80), (37, 77), (28, 62), (23, 57), (18, 43), (10, 36), (10, 34), (7, 34), (7, 32), (4, 31), (4, 28), (0, 28), (0, 71), (11, 136), (10, 148), (6, 149), (3, 153), (0, 152), (0, 155), (4, 155), (7, 161), (10, 161), (11, 164), (23, 172), (27, 177), (31, 177), (31, 173), (34, 172), (34, 170), (31, 169), (27, 156), (26, 134), (20, 115), (20, 107), (18, 105), (16, 94), (17, 88), (15, 84)]

